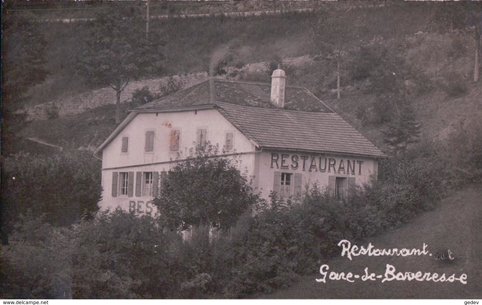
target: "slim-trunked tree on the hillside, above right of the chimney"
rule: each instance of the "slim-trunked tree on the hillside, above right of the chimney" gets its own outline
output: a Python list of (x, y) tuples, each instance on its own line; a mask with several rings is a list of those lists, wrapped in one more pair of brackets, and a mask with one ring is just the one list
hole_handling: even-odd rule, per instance
[(346, 12), (325, 9), (311, 28), (311, 40), (311, 58), (336, 63), (336, 92), (340, 99), (341, 65), (346, 53), (357, 45), (357, 23), (349, 20)]

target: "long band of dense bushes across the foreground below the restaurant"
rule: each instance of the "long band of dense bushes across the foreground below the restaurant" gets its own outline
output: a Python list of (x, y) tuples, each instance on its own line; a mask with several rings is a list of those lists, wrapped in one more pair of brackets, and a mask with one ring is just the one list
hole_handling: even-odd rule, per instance
[[(377, 181), (342, 200), (317, 185), (306, 186), (299, 202), (256, 200), (255, 214), (246, 210), (211, 239), (209, 224), (182, 241), (175, 230), (162, 228), (164, 219), (120, 209), (63, 230), (41, 219), (23, 221), (15, 234), (20, 242), (2, 248), (0, 284), (6, 297), (19, 298), (63, 292), (73, 298), (239, 298), (272, 292), (316, 272), (321, 261), (339, 253), (341, 239), (366, 239), (430, 210), (444, 188), (443, 167), (432, 148), (417, 149), (409, 155), (414, 157), (383, 160)], [(32, 281), (24, 271), (9, 273), (14, 268), (39, 275)], [(36, 294), (29, 285), (39, 287)]]

